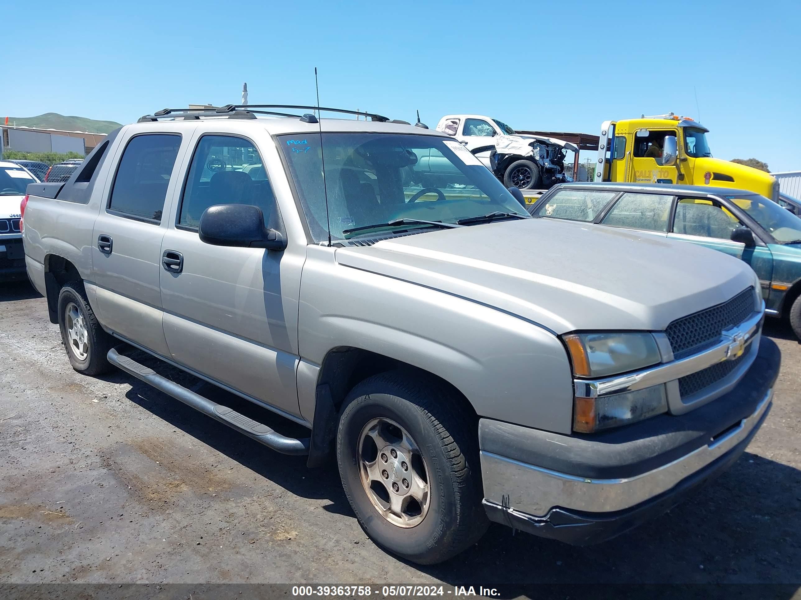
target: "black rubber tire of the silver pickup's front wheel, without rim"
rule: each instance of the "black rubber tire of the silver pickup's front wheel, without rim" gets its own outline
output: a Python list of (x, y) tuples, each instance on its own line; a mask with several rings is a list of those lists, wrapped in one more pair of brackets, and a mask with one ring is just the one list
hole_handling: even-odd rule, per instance
[[(360, 526), (384, 550), (423, 565), (459, 554), (489, 526), (481, 506), (477, 420), (455, 396), (434, 378), (389, 371), (357, 385), (340, 411), (336, 458)], [(405, 429), (417, 443), (425, 468), (437, 474), (429, 478), (429, 506), (415, 526), (389, 522), (362, 485), (360, 434), (375, 418), (391, 419)]]

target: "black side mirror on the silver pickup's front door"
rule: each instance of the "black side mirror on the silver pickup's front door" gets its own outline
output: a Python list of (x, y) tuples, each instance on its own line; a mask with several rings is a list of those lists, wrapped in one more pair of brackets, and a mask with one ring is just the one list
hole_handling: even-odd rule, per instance
[(258, 206), (216, 204), (203, 210), (198, 234), (201, 242), (212, 246), (267, 248), (284, 250), (284, 235), (264, 226), (264, 214)]

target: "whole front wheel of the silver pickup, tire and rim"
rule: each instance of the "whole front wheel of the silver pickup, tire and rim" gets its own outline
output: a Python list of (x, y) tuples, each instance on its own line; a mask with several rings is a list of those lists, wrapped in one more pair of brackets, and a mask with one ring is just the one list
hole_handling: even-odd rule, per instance
[(356, 386), (340, 414), (337, 462), (356, 518), (377, 545), (420, 564), (451, 558), (488, 526), (477, 423), (460, 400), (392, 371)]

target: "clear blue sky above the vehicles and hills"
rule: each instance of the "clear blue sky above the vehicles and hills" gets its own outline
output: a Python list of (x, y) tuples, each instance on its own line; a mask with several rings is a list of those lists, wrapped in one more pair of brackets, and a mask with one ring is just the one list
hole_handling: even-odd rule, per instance
[(132, 122), (238, 103), (243, 82), (251, 103), (312, 104), (317, 66), (323, 106), (592, 134), (607, 118), (673, 111), (710, 129), (715, 156), (801, 170), (799, 2), (33, 6), (2, 10), (0, 117)]

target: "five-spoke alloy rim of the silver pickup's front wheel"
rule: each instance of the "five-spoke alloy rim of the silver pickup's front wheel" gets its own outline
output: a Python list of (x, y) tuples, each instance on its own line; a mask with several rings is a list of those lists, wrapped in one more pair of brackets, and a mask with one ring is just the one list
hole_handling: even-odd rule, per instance
[(429, 512), (429, 468), (409, 432), (374, 418), (359, 435), (359, 475), (372, 506), (392, 525), (419, 525)]

